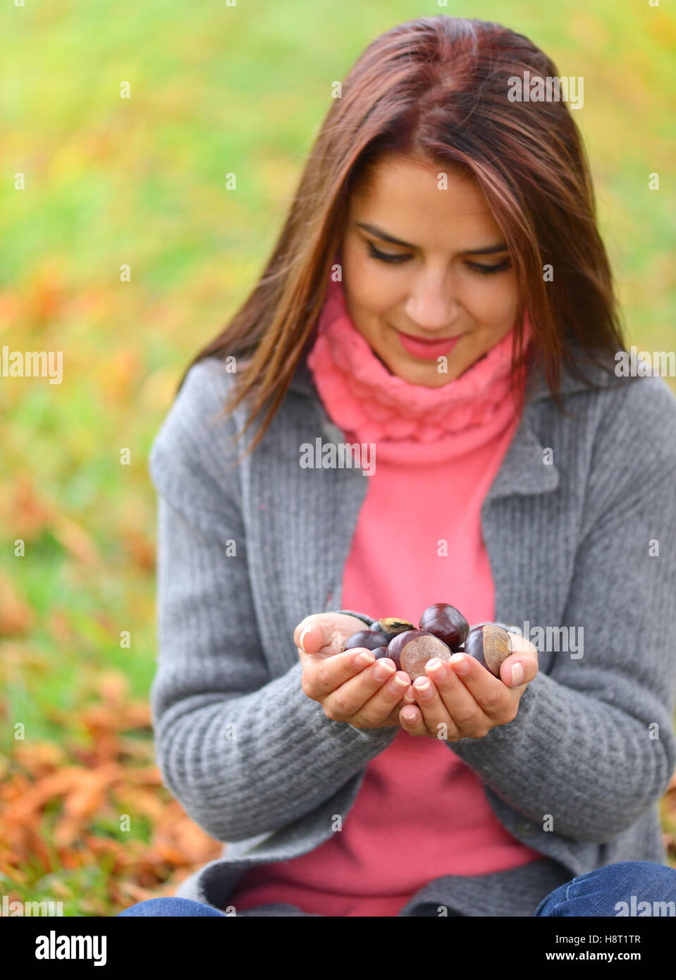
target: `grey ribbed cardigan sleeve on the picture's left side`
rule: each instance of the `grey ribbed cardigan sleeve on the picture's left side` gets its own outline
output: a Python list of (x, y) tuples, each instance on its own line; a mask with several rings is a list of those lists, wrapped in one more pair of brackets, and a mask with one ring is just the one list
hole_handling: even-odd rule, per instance
[[(247, 568), (222, 382), (191, 368), (150, 454), (158, 500), (156, 756), (183, 809), (220, 841), (271, 832), (328, 800), (397, 734), (336, 724), (297, 662), (270, 676)], [(240, 449), (238, 447), (237, 452)], [(232, 542), (236, 543), (235, 555)]]

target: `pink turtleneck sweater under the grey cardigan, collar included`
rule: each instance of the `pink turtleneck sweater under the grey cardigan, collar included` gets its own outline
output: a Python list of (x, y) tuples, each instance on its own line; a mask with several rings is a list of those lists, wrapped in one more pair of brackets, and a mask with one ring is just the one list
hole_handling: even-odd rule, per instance
[[(527, 319), (524, 326), (529, 340)], [(412, 385), (379, 361), (348, 315), (342, 284), (330, 284), (308, 365), (346, 441), (375, 445), (343, 609), (416, 624), (428, 606), (444, 602), (470, 624), (495, 617), (481, 505), (519, 420), (510, 351), (509, 333), (441, 388)], [(228, 905), (396, 916), (435, 878), (541, 857), (511, 836), (481, 780), (449, 745), (401, 729), (366, 766), (342, 830), (300, 858), (247, 872)]]

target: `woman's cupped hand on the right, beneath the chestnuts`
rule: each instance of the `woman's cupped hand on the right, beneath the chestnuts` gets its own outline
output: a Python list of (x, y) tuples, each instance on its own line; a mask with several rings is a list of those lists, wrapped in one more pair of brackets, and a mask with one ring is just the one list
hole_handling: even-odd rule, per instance
[(427, 664), (427, 677), (417, 677), (411, 688), (414, 694), (404, 698), (410, 704), (399, 713), (402, 728), (410, 735), (458, 742), (483, 738), (492, 728), (513, 721), (521, 695), (538, 672), (538, 651), (530, 640), (516, 633), (509, 636), (512, 652), (501, 664), (500, 680), (464, 654), (454, 654), (450, 663), (437, 662), (436, 669)]

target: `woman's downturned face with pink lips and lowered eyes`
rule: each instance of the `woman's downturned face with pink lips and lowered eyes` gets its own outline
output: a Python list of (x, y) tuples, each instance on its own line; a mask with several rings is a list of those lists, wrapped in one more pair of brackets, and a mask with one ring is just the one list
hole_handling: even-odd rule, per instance
[(439, 172), (389, 154), (370, 189), (353, 192), (341, 243), (355, 326), (391, 373), (430, 388), (502, 340), (517, 306), (507, 245), (483, 192), (453, 172), (440, 190)]

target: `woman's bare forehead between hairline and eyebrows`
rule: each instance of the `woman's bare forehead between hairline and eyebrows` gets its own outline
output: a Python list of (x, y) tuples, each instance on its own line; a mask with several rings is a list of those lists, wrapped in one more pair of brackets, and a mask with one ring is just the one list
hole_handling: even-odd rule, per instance
[(473, 175), (402, 154), (389, 154), (373, 166), (352, 195), (350, 216), (420, 248), (450, 248), (468, 237), (478, 247), (500, 235)]

